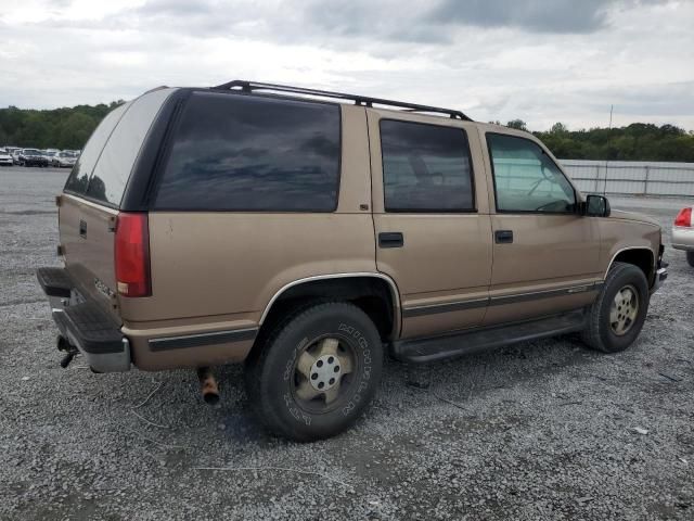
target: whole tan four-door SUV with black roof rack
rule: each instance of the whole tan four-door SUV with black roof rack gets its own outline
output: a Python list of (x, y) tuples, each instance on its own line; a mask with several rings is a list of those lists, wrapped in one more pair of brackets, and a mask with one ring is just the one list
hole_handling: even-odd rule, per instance
[(583, 196), (532, 135), (458, 111), (277, 85), (160, 88), (110, 113), (42, 268), (63, 365), (245, 363), (290, 439), (334, 435), (383, 356), (581, 331), (629, 346), (665, 280), (657, 224)]

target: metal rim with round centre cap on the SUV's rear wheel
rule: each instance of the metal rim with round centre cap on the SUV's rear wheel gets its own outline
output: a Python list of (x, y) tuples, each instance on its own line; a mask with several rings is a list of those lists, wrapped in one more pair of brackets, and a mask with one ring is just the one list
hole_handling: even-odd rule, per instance
[(349, 343), (321, 338), (306, 347), (294, 368), (294, 396), (309, 411), (335, 408), (350, 390), (357, 357)]

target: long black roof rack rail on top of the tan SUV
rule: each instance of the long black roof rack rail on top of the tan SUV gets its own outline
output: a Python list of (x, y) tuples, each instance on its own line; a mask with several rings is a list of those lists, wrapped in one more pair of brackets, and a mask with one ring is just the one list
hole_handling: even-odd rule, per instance
[(293, 94), (307, 94), (318, 96), (321, 98), (333, 98), (337, 100), (354, 101), (356, 105), (373, 106), (373, 104), (397, 106), (399, 109), (406, 109), (410, 112), (434, 112), (440, 114), (448, 114), (452, 119), (462, 119), (465, 122), (472, 122), (470, 117), (463, 114), (461, 111), (454, 111), (451, 109), (441, 109), (438, 106), (419, 105), (416, 103), (404, 103), (402, 101), (383, 100), (381, 98), (369, 98), (367, 96), (346, 94), (343, 92), (332, 92), (329, 90), (306, 89), (304, 87), (292, 87), (287, 85), (275, 84), (260, 84), (257, 81), (246, 81), (243, 79), (234, 79), (217, 87), (213, 87), (216, 90), (241, 90), (243, 92), (253, 92), (254, 90), (271, 90), (274, 92), (290, 92)]

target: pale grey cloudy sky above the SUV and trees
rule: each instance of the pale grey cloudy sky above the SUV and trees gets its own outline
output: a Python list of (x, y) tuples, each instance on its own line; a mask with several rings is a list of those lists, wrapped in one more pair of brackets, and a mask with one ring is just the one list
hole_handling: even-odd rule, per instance
[(694, 129), (694, 0), (0, 0), (0, 106), (243, 78)]

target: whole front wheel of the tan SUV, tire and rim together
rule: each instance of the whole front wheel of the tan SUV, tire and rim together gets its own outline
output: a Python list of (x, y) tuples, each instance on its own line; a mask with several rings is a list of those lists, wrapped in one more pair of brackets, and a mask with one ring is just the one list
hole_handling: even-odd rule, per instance
[(590, 307), (583, 342), (603, 353), (629, 347), (646, 319), (648, 297), (648, 282), (643, 271), (632, 264), (615, 263)]

